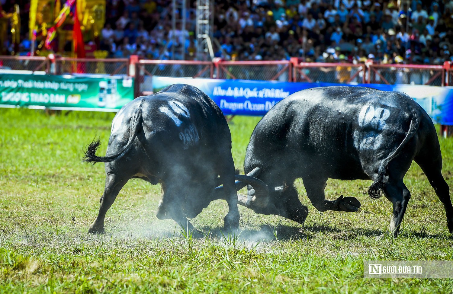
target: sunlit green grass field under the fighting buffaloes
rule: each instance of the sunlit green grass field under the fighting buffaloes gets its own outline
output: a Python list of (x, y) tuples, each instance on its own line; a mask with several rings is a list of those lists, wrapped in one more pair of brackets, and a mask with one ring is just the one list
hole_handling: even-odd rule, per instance
[[(212, 237), (184, 238), (155, 212), (160, 187), (130, 180), (106, 217), (106, 234), (87, 233), (99, 209), (104, 167), (81, 162), (97, 134), (105, 154), (111, 113), (0, 109), (0, 292), (2, 293), (452, 293), (449, 279), (363, 279), (363, 260), (452, 260), (453, 238), (443, 207), (414, 163), (412, 193), (397, 239), (386, 231), (391, 204), (364, 193), (370, 182), (329, 180), (326, 197), (355, 196), (359, 212), (311, 206), (305, 227), (240, 207), (241, 234), (219, 228), (226, 202), (212, 202), (192, 220)], [(242, 169), (258, 122), (230, 124), (233, 157)], [(453, 186), (453, 139), (440, 139), (445, 176)], [(243, 193), (243, 192), (242, 192)]]

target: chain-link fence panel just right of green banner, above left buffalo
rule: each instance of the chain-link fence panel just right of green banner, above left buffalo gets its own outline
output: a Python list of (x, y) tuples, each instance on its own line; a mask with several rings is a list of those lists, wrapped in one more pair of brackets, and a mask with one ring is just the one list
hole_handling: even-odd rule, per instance
[(136, 64), (135, 91), (139, 95), (153, 92), (152, 77), (212, 78), (214, 64), (209, 61), (140, 60)]

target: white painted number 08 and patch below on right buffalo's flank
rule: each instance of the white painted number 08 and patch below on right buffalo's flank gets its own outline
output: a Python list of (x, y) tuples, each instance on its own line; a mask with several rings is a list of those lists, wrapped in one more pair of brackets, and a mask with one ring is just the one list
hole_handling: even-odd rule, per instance
[(354, 131), (354, 146), (357, 149), (378, 149), (383, 142), (380, 130), (386, 128), (386, 119), (390, 111), (386, 108), (374, 108), (371, 105), (363, 106), (359, 113), (359, 126), (368, 129), (365, 134), (362, 131)]

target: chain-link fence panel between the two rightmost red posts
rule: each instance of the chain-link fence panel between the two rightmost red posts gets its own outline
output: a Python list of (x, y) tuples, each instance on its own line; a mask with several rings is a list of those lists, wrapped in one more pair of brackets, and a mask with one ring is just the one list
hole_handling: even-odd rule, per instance
[(370, 64), (368, 83), (443, 86), (443, 67), (441, 65)]

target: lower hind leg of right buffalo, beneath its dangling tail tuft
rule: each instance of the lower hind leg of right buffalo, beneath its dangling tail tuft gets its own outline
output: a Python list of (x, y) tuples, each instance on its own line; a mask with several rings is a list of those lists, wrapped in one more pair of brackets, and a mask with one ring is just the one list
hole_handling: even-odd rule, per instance
[(403, 183), (403, 180), (395, 183), (385, 183), (383, 190), (386, 198), (393, 204), (393, 213), (390, 219), (390, 233), (396, 238), (410, 199), (410, 192)]

